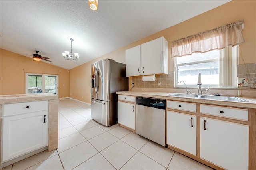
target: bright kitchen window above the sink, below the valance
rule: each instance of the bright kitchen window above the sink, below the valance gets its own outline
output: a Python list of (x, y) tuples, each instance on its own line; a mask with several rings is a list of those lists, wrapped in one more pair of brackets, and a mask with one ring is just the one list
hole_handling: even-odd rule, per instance
[(198, 87), (198, 74), (202, 84), (210, 87), (237, 87), (238, 45), (206, 53), (192, 53), (175, 57), (175, 87)]

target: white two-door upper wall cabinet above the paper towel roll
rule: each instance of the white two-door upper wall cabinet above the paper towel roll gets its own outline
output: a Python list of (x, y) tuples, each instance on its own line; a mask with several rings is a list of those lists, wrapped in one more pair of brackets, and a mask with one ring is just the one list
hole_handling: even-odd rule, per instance
[(126, 50), (126, 77), (168, 74), (168, 42), (164, 37)]

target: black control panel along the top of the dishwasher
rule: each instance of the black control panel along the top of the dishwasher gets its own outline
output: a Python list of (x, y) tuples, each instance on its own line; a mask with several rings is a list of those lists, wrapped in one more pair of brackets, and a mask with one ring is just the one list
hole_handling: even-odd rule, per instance
[(156, 99), (156, 98), (137, 96), (136, 104), (148, 106), (148, 107), (154, 107), (154, 108), (158, 108), (158, 109), (166, 109), (166, 100), (165, 99)]

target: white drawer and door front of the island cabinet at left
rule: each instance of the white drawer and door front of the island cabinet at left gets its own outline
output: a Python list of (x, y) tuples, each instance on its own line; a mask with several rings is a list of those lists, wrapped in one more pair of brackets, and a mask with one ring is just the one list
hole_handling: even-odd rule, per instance
[(2, 162), (48, 146), (48, 100), (1, 105)]

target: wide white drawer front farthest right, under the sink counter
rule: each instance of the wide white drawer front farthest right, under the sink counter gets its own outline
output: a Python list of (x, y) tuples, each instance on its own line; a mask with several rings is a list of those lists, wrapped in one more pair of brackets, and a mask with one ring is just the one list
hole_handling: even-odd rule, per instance
[(200, 112), (208, 115), (216, 115), (221, 117), (227, 117), (232, 119), (242, 119), (242, 120), (248, 121), (248, 109), (201, 105)]

